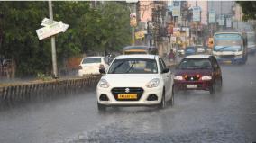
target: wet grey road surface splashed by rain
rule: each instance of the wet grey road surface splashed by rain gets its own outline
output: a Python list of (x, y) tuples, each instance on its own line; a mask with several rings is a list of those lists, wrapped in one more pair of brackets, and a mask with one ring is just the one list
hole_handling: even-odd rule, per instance
[(98, 113), (95, 91), (0, 112), (2, 143), (256, 141), (256, 56), (222, 66), (220, 94), (180, 93), (174, 107), (109, 108)]

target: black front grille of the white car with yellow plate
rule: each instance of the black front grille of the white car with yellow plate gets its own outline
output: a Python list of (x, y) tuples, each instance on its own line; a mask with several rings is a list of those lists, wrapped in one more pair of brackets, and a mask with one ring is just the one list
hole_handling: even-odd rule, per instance
[[(127, 92), (129, 89), (129, 92)], [(142, 97), (144, 90), (140, 87), (115, 87), (111, 90), (116, 101), (139, 101)], [(118, 99), (118, 94), (137, 94), (137, 99)]]

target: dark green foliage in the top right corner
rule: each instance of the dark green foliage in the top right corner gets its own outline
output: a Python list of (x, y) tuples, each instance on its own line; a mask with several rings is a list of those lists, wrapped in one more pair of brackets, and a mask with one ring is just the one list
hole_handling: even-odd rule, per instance
[(238, 1), (236, 2), (242, 7), (242, 20), (255, 20), (256, 19), (256, 2), (255, 1)]

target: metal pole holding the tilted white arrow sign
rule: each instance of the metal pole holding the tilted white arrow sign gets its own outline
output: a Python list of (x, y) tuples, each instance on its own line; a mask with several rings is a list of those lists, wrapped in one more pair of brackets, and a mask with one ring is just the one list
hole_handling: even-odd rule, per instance
[[(48, 1), (49, 4), (49, 15), (50, 15), (50, 24), (53, 23), (53, 13), (52, 13), (52, 4), (51, 0)], [(56, 58), (56, 48), (55, 48), (55, 37), (51, 36), (51, 54), (52, 54), (52, 67), (53, 67), (53, 78), (58, 78), (58, 69), (57, 69), (57, 58)]]

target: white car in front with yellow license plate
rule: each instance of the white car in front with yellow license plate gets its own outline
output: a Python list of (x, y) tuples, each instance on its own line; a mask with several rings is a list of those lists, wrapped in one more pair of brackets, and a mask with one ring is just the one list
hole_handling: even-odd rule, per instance
[(174, 103), (173, 78), (156, 55), (122, 55), (114, 58), (96, 87), (97, 106), (159, 105)]

